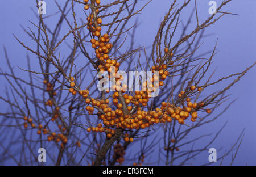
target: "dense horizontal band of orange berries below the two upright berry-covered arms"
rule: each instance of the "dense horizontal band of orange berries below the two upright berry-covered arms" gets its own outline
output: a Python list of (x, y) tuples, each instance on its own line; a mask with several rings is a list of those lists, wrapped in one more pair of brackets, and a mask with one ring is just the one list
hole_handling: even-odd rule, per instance
[[(137, 92), (137, 95), (140, 94), (141, 91)], [(135, 95), (135, 96), (137, 96)], [(124, 98), (129, 99), (129, 96), (126, 94)], [(99, 111), (97, 113), (98, 119), (103, 121), (105, 127), (110, 128), (122, 128), (122, 129), (139, 129), (139, 128), (146, 128), (150, 127), (150, 125), (158, 124), (158, 123), (165, 123), (171, 122), (172, 119), (177, 120), (180, 124), (184, 124), (184, 120), (191, 115), (191, 120), (195, 121), (197, 118), (197, 112), (195, 111), (197, 106), (203, 106), (203, 103), (192, 103), (190, 99), (187, 98), (187, 106), (175, 107), (170, 103), (162, 102), (160, 108), (156, 108), (155, 111), (142, 111), (141, 107), (137, 107), (137, 110), (132, 115), (127, 115), (122, 111), (122, 103), (118, 103), (118, 92), (114, 92), (113, 94), (114, 104), (117, 106), (115, 111), (108, 106), (109, 100), (96, 100), (96, 99), (86, 99), (85, 102), (88, 104), (92, 104), (92, 106), (97, 106), (100, 108), (104, 113)], [(134, 98), (134, 97), (130, 97)], [(129, 100), (130, 100), (129, 99)], [(140, 98), (142, 99), (142, 98)], [(117, 100), (117, 102), (115, 101)], [(126, 101), (126, 103), (128, 103)], [(128, 106), (127, 109), (131, 111), (132, 106)], [(94, 107), (87, 106), (86, 110), (92, 114), (94, 111)], [(208, 111), (209, 112), (209, 111)], [(98, 124), (97, 127), (92, 127), (87, 129), (88, 132), (91, 130), (93, 132), (106, 132), (107, 137), (110, 138), (114, 134), (114, 130), (106, 129), (102, 127), (102, 124)], [(132, 138), (128, 136), (124, 138), (125, 141), (133, 141)]]

